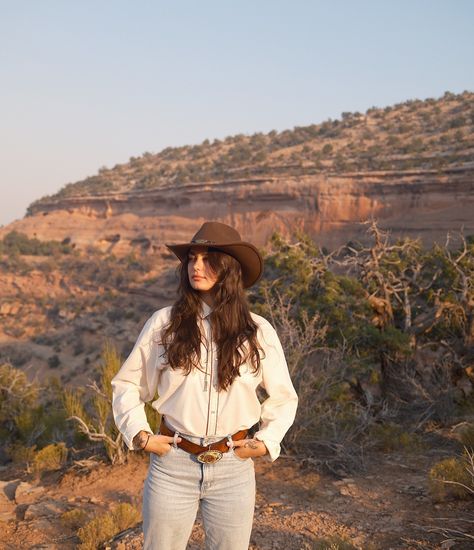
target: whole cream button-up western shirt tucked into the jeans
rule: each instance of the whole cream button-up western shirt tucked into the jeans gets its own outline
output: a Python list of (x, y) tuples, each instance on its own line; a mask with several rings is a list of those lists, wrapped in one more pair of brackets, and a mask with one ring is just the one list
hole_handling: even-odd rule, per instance
[[(151, 406), (165, 415), (167, 423), (183, 437), (226, 437), (260, 423), (255, 438), (263, 441), (269, 460), (280, 454), (280, 442), (292, 425), (298, 397), (288, 372), (285, 355), (273, 326), (263, 317), (251, 312), (258, 325), (257, 338), (264, 349), (259, 374), (251, 372), (244, 363), (227, 390), (218, 390), (217, 350), (212, 340), (209, 313), (204, 302), (200, 315), (200, 368), (187, 376), (172, 369), (164, 360), (160, 332), (169, 321), (171, 306), (159, 309), (145, 323), (130, 355), (113, 377), (112, 409), (117, 428), (129, 449), (140, 431), (152, 432), (145, 414), (145, 402), (151, 401), (158, 390), (158, 399)], [(267, 399), (260, 403), (256, 389), (261, 385)]]

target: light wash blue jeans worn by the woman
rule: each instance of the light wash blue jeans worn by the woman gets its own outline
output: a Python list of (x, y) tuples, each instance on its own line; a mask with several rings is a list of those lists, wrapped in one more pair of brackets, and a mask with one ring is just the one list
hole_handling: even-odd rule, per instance
[[(201, 438), (185, 437), (204, 444)], [(208, 438), (206, 444), (218, 439)], [(248, 550), (255, 509), (253, 459), (230, 450), (214, 464), (201, 464), (173, 445), (164, 456), (150, 453), (143, 489), (143, 549), (184, 550), (199, 503), (206, 550)]]

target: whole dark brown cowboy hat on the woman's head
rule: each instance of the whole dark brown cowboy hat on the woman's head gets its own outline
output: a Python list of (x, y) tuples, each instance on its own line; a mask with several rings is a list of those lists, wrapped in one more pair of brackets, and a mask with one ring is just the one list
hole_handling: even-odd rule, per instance
[(255, 284), (263, 273), (263, 258), (257, 247), (243, 241), (230, 225), (220, 222), (205, 222), (189, 243), (166, 244), (184, 262), (193, 245), (204, 245), (226, 252), (242, 266), (242, 282), (245, 288)]

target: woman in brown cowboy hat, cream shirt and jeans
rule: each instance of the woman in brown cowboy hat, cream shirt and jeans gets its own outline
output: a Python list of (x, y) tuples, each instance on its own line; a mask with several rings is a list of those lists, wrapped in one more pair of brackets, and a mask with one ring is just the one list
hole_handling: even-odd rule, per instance
[[(274, 461), (297, 395), (272, 325), (249, 311), (261, 277), (257, 248), (206, 222), (180, 259), (178, 299), (146, 322), (112, 379), (116, 425), (150, 453), (143, 492), (144, 549), (186, 548), (199, 504), (209, 550), (247, 549), (255, 506), (253, 459)], [(268, 397), (260, 404), (256, 390)], [(144, 403), (162, 415), (159, 433)], [(260, 423), (253, 437), (249, 428)]]

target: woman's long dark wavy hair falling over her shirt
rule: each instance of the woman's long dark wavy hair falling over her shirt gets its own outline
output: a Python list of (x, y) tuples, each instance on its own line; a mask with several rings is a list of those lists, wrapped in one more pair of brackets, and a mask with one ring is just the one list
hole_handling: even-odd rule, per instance
[[(250, 315), (240, 263), (212, 247), (208, 247), (207, 257), (210, 268), (217, 275), (210, 290), (214, 307), (209, 321), (218, 351), (218, 388), (226, 390), (240, 376), (240, 366), (244, 362), (251, 365), (252, 372), (259, 372), (260, 351), (265, 352), (257, 339), (258, 325)], [(200, 368), (202, 338), (198, 324), (201, 298), (189, 282), (188, 262), (186, 255), (178, 266), (178, 299), (171, 309), (169, 323), (161, 332), (168, 364), (173, 369), (182, 369), (186, 375), (193, 368)]]

